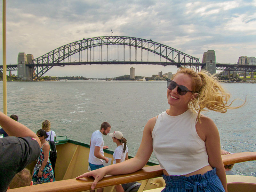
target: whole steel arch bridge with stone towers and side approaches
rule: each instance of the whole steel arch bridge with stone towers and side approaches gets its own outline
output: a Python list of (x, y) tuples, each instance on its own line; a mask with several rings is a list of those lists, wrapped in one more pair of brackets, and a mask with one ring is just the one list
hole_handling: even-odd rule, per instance
[[(203, 62), (178, 51), (170, 46), (147, 39), (128, 36), (100, 36), (63, 45), (36, 59), (32, 54), (19, 53), (18, 64), (7, 65), (7, 71), (18, 70), (18, 78), (37, 80), (54, 66), (68, 65), (103, 65), (103, 64), (137, 64), (137, 65), (174, 65), (177, 68), (191, 67), (205, 69), (211, 74), (216, 70), (256, 72), (256, 66), (219, 64), (215, 61), (215, 52), (204, 53)], [(3, 66), (0, 66), (3, 70)], [(252, 73), (253, 74), (253, 73)]]

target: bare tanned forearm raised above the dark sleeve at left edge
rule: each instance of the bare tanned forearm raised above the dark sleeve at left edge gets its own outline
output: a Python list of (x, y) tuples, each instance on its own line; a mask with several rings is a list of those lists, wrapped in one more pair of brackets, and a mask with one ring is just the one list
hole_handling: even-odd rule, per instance
[(0, 125), (9, 136), (35, 138), (39, 146), (41, 145), (36, 133), (18, 121), (4, 115), (2, 112), (0, 112)]

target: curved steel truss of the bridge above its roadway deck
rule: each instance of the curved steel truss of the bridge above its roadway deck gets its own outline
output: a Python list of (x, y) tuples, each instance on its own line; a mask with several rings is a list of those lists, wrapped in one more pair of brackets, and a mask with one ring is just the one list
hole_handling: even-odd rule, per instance
[[(108, 46), (110, 45), (110, 61), (112, 63), (109, 63), (108, 61)], [(116, 45), (116, 57), (114, 58), (114, 45)], [(119, 57), (119, 47), (120, 45), (123, 46), (122, 49), (122, 58)], [(107, 46), (107, 51), (106, 51)], [(121, 47), (122, 47), (121, 46)], [(82, 39), (70, 44), (63, 45), (57, 49), (52, 50), (51, 52), (48, 52), (36, 59), (33, 60), (31, 66), (34, 66), (35, 68), (35, 74), (33, 75), (33, 79), (37, 79), (44, 75), (48, 70), (50, 70), (53, 66), (62, 66), (65, 65), (81, 65), (81, 64), (125, 64), (128, 63), (125, 61), (125, 46), (128, 46), (128, 62), (131, 62), (131, 64), (140, 64), (140, 62), (143, 62), (143, 54), (142, 51), (146, 50), (147, 54), (149, 52), (152, 52), (154, 54), (153, 61), (149, 61), (149, 57), (147, 56), (147, 62), (148, 64), (154, 64), (155, 57), (159, 56), (159, 61), (162, 63), (162, 65), (166, 66), (169, 63), (180, 63), (181, 65), (184, 63), (184, 66), (188, 66), (191, 64), (191, 66), (194, 66), (196, 63), (199, 63), (199, 59), (195, 58), (193, 56), (190, 56), (186, 53), (180, 52), (176, 49), (173, 49), (172, 47), (169, 47), (164, 44), (160, 44), (157, 42), (154, 42), (152, 40), (147, 39), (141, 39), (136, 37), (127, 37), (127, 36), (101, 36), (101, 37), (93, 37), (88, 39)], [(94, 47), (95, 48), (95, 56), (94, 56)], [(97, 52), (97, 47), (98, 52)], [(135, 61), (132, 61), (131, 58), (131, 47), (135, 47)], [(92, 61), (91, 61), (91, 48), (92, 48)], [(101, 48), (101, 49), (100, 49)], [(137, 48), (141, 49), (141, 61), (137, 61)], [(85, 60), (85, 50), (87, 50), (87, 60)], [(106, 52), (107, 52), (107, 58), (106, 58)], [(82, 62), (82, 51), (84, 51), (84, 62)], [(101, 52), (100, 52), (101, 51)], [(90, 54), (90, 61), (88, 62), (88, 52)], [(79, 61), (75, 62), (75, 56), (79, 53)], [(81, 57), (80, 57), (81, 53)], [(127, 53), (127, 49), (126, 49)], [(71, 64), (71, 56), (74, 58), (73, 64)], [(98, 58), (97, 58), (98, 56)], [(101, 58), (100, 58), (101, 57)], [(81, 62), (80, 62), (81, 58)], [(96, 58), (96, 60), (94, 60)], [(162, 58), (162, 61), (161, 61)], [(65, 60), (70, 62), (65, 62)], [(98, 61), (98, 63), (97, 63)], [(145, 61), (146, 62), (146, 61)], [(158, 62), (158, 61), (156, 61)], [(146, 64), (143, 62), (143, 64)], [(178, 65), (180, 65), (178, 64)], [(177, 65), (177, 67), (178, 67)], [(198, 66), (196, 66), (198, 67)]]

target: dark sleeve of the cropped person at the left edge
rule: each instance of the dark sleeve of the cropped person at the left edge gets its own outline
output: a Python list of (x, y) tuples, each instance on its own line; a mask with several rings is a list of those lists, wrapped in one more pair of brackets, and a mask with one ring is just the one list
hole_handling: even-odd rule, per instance
[(0, 192), (5, 192), (16, 173), (40, 155), (38, 142), (30, 137), (0, 139)]

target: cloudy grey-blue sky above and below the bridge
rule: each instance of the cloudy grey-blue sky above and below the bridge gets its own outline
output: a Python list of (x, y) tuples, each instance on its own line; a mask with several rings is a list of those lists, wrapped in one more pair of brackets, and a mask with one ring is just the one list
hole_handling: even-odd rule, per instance
[[(214, 50), (216, 62), (256, 57), (256, 0), (8, 0), (7, 65), (19, 52), (40, 57), (83, 38), (131, 36), (152, 39), (200, 58)], [(1, 26), (2, 26), (2, 2)], [(1, 28), (2, 36), (2, 28)], [(2, 37), (0, 39), (2, 44)], [(2, 65), (2, 46), (0, 63)], [(48, 76), (152, 76), (176, 66), (90, 65), (53, 67)], [(17, 74), (17, 72), (13, 72)]]

